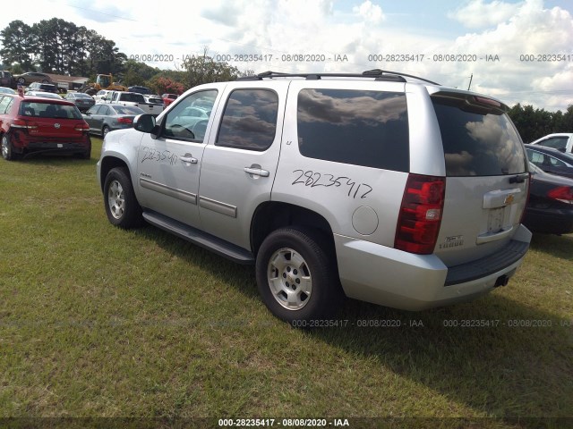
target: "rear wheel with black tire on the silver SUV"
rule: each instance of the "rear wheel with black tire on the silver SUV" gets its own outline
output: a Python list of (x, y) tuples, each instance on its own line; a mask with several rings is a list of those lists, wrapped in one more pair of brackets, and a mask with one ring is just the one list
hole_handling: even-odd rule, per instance
[(273, 315), (304, 327), (336, 313), (344, 294), (330, 247), (318, 231), (302, 228), (280, 228), (267, 236), (257, 254), (256, 274)]

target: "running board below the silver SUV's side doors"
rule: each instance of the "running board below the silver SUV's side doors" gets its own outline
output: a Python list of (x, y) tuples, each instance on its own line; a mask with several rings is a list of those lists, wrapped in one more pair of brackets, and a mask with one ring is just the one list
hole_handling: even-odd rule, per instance
[(164, 231), (175, 234), (181, 239), (190, 241), (197, 246), (201, 246), (201, 248), (207, 248), (221, 257), (227, 257), (227, 259), (243, 265), (254, 264), (254, 257), (248, 250), (240, 248), (225, 240), (218, 239), (217, 237), (193, 228), (192, 226), (175, 221), (163, 214), (151, 211), (143, 212), (143, 219)]

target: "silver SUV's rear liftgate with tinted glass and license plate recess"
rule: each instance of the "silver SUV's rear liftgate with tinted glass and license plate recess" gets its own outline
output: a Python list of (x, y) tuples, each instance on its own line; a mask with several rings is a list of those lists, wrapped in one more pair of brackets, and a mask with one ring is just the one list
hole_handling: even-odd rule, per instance
[(447, 265), (492, 254), (519, 227), (529, 185), (526, 151), (495, 100), (438, 93), (446, 199), (434, 253)]

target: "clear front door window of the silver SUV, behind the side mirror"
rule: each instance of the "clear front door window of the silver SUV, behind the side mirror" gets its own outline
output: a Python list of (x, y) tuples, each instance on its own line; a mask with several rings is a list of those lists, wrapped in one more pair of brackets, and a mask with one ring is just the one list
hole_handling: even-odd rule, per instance
[[(169, 139), (202, 142), (217, 94), (216, 89), (194, 92), (177, 103), (167, 114), (163, 136)], [(191, 108), (198, 101), (205, 107)]]

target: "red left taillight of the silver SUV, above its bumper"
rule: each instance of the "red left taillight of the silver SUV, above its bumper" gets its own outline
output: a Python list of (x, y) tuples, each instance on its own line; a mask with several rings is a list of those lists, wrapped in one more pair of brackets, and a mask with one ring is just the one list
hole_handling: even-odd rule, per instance
[(440, 232), (446, 180), (410, 174), (398, 215), (394, 247), (410, 253), (433, 252)]

